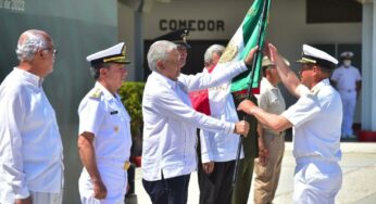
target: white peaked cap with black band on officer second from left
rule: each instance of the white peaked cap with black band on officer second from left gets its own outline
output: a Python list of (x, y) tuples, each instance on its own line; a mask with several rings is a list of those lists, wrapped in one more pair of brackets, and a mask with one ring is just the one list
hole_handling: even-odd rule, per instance
[(90, 62), (91, 66), (116, 63), (116, 64), (129, 64), (126, 60), (126, 46), (124, 42), (120, 42), (111, 48), (92, 53), (86, 58)]

